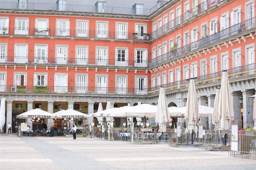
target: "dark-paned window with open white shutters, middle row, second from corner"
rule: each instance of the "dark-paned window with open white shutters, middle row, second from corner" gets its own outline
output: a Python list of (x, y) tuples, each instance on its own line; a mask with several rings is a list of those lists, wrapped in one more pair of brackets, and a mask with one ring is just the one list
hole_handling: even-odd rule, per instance
[(116, 48), (116, 66), (128, 66), (129, 50)]

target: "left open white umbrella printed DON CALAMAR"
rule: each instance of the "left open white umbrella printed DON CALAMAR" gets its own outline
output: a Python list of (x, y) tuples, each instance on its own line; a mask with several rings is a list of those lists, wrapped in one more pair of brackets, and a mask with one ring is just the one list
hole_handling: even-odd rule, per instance
[(30, 119), (34, 117), (50, 119), (50, 118), (55, 118), (56, 115), (41, 109), (31, 109), (30, 111), (26, 111), (20, 115), (17, 115), (17, 118), (20, 118), (20, 119)]

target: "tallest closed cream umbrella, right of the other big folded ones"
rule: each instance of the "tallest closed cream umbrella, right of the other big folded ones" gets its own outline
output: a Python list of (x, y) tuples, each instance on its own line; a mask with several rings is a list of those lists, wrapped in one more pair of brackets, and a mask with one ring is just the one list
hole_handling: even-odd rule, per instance
[(226, 71), (222, 73), (218, 117), (220, 118), (220, 130), (229, 130), (231, 128), (231, 120), (234, 119), (234, 108)]

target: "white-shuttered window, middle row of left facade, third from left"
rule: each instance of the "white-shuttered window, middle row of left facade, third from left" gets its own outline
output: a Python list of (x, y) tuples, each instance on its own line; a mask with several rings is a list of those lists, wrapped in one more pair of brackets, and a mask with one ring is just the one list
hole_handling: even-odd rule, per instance
[(48, 63), (48, 45), (35, 45), (34, 62), (39, 64)]

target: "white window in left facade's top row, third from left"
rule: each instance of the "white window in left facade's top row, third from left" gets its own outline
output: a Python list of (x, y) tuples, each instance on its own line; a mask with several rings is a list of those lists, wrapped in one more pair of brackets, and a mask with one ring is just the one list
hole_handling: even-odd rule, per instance
[(36, 18), (35, 20), (35, 35), (49, 35), (49, 20)]

